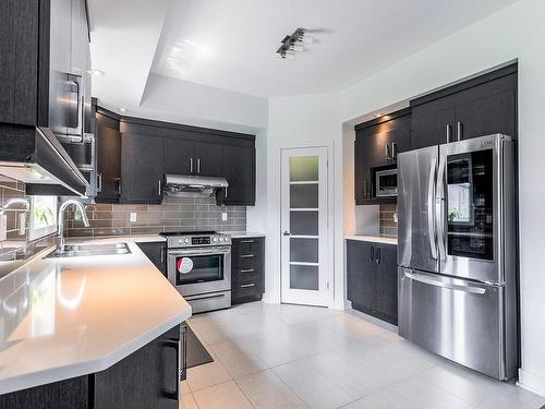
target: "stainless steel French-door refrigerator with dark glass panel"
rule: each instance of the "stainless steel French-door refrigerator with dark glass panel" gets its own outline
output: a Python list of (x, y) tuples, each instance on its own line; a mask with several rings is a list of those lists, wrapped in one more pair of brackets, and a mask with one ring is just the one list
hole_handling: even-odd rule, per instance
[(398, 156), (399, 334), (498, 380), (517, 352), (514, 147), (494, 134)]

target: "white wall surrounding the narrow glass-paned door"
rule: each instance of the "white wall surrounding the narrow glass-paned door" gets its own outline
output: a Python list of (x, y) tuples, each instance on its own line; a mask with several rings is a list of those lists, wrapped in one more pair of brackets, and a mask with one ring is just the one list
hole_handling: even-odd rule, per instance
[[(327, 146), (329, 154), (329, 240), (336, 269), (343, 269), (342, 240), (342, 124), (340, 95), (326, 94), (269, 100), (269, 128), (267, 130), (267, 216), (266, 216), (266, 269), (264, 299), (280, 302), (280, 149), (289, 147)], [(258, 165), (258, 173), (265, 172)], [(263, 218), (263, 215), (262, 215)], [(258, 228), (249, 217), (249, 229)], [(340, 246), (339, 246), (340, 243)], [(342, 308), (344, 279), (335, 277), (331, 306)]]

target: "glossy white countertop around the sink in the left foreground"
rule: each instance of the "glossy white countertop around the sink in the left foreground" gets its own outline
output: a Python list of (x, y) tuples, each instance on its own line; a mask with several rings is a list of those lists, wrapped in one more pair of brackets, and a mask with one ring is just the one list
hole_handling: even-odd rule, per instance
[[(191, 316), (135, 244), (131, 254), (40, 256), (0, 279), (0, 394), (108, 369)], [(52, 249), (50, 249), (52, 250)]]

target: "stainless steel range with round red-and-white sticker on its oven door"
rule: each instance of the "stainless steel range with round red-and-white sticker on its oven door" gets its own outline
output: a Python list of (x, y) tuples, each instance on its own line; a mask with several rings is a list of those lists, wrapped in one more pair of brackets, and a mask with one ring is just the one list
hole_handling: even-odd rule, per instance
[(231, 306), (231, 239), (216, 232), (165, 233), (167, 276), (194, 313)]

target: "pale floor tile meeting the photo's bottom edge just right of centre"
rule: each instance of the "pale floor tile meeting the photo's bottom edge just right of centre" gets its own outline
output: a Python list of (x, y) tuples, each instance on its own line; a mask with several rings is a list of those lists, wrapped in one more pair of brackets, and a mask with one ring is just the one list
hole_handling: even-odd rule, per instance
[(311, 408), (340, 408), (353, 400), (304, 360), (276, 366), (274, 371)]

